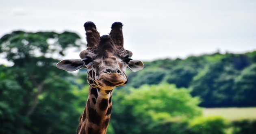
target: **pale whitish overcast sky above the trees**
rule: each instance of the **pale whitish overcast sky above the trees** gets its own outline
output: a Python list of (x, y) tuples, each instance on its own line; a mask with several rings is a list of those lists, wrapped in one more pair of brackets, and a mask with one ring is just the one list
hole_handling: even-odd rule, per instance
[(0, 37), (68, 30), (86, 42), (87, 21), (101, 36), (122, 22), (124, 48), (144, 61), (256, 50), (255, 0), (0, 0)]

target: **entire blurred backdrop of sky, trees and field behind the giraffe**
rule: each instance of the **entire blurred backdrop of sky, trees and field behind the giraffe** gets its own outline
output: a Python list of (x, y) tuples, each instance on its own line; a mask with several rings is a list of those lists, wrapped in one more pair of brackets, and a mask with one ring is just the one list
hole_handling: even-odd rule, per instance
[(113, 92), (107, 134), (256, 134), (254, 0), (0, 1), (0, 134), (74, 134), (86, 69), (56, 68), (122, 22), (145, 68)]

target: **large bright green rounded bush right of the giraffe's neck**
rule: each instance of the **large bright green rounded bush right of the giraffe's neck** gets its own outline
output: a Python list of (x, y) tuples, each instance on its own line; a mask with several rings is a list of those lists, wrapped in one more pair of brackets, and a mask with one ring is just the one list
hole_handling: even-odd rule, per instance
[(186, 128), (183, 120), (201, 115), (198, 103), (199, 99), (192, 98), (189, 90), (170, 84), (143, 85), (130, 89), (129, 94), (116, 91), (111, 123), (117, 134), (172, 132)]

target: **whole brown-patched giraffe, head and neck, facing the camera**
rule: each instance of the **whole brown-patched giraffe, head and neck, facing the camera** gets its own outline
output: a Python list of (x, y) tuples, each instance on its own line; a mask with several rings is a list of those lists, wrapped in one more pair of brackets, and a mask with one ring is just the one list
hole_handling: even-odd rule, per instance
[(110, 34), (102, 37), (93, 22), (86, 22), (84, 27), (87, 49), (80, 52), (81, 59), (63, 60), (56, 66), (66, 71), (87, 69), (89, 95), (76, 134), (106, 134), (113, 89), (128, 82), (126, 68), (136, 72), (144, 65), (132, 60), (132, 52), (124, 49), (121, 22), (113, 23)]

